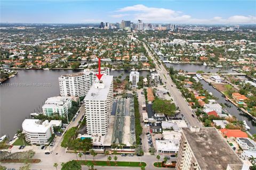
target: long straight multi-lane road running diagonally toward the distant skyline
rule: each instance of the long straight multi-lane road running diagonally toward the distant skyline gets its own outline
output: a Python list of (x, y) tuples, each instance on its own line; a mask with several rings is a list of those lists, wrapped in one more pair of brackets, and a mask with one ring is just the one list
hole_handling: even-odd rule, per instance
[[(149, 57), (151, 57), (154, 60), (154, 63), (156, 63), (157, 73), (160, 75), (166, 88), (173, 96), (175, 104), (179, 106), (181, 114), (185, 116), (185, 120), (187, 121), (188, 125), (202, 127), (202, 124), (199, 122), (196, 115), (193, 113), (191, 107), (188, 105), (185, 98), (183, 98), (183, 96), (181, 95), (181, 92), (175, 87), (175, 84), (172, 82), (172, 79), (168, 74), (169, 72), (166, 71), (165, 67), (162, 64), (160, 65), (157, 63), (156, 59), (153, 57), (145, 43), (143, 43), (143, 45), (146, 48)], [(192, 114), (194, 114), (195, 117), (193, 117)]]

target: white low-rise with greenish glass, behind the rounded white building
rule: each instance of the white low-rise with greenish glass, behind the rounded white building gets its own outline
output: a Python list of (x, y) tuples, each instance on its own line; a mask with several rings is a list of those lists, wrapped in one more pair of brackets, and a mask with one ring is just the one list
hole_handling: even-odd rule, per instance
[(43, 105), (43, 114), (51, 116), (53, 113), (58, 113), (60, 116), (68, 114), (68, 109), (72, 106), (71, 97), (57, 96), (50, 97)]

